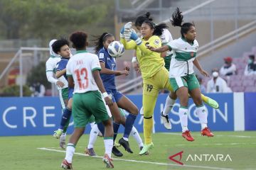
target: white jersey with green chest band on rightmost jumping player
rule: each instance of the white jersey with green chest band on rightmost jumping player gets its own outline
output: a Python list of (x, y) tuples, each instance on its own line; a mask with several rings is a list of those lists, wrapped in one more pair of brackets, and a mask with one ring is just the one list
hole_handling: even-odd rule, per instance
[(195, 60), (198, 50), (197, 40), (190, 44), (183, 38), (178, 38), (168, 42), (167, 45), (174, 52), (174, 55), (171, 57), (169, 77), (183, 77), (193, 74), (193, 60)]

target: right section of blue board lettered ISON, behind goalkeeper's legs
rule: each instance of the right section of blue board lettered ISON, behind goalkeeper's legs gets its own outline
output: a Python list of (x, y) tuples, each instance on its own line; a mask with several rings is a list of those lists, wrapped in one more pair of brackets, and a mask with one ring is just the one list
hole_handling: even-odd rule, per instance
[[(220, 108), (218, 110), (210, 108), (205, 104), (208, 111), (208, 127), (215, 130), (234, 130), (234, 115), (233, 115), (233, 94), (208, 94), (210, 98), (215, 99), (220, 103)], [(128, 96), (132, 102), (140, 109), (142, 107), (142, 95)], [(160, 113), (164, 108), (164, 103), (166, 101), (166, 94), (159, 95), (156, 101), (156, 107), (154, 109), (154, 131), (155, 132), (181, 132), (181, 125), (178, 117), (179, 101), (177, 100), (174, 104), (174, 108), (171, 113), (169, 113), (169, 118), (171, 120), (172, 129), (166, 130), (164, 125), (161, 123)], [(135, 127), (139, 132), (143, 132), (143, 117), (138, 116)], [(196, 106), (192, 99), (189, 99), (188, 103), (188, 129), (191, 131), (200, 131), (201, 124), (196, 115)]]

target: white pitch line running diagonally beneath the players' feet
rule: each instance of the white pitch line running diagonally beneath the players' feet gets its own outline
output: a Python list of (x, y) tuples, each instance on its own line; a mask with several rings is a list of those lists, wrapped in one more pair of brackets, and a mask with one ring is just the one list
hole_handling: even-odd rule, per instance
[[(39, 147), (37, 149), (65, 153), (65, 151), (63, 151), (63, 150), (48, 149), (46, 147)], [(89, 157), (87, 154), (81, 154), (81, 153), (75, 153), (75, 154), (78, 154), (78, 155), (83, 156), (83, 157)], [(94, 157), (102, 159), (102, 157), (100, 157), (100, 156), (94, 156)], [(143, 164), (157, 164), (157, 165), (169, 165), (169, 166), (180, 166), (181, 167), (181, 165), (178, 165), (178, 164), (166, 164), (166, 163), (161, 163), (161, 162), (146, 162), (146, 161), (137, 161), (137, 160), (132, 160), (132, 159), (119, 159), (119, 158), (113, 158), (113, 159), (114, 160), (118, 160), (118, 161), (124, 161), (124, 162), (137, 162), (137, 163), (143, 163)], [(191, 168), (198, 168), (198, 169), (223, 169), (223, 170), (231, 170), (231, 169), (227, 169), (227, 168), (212, 167), (212, 166), (196, 166), (196, 165), (183, 165), (183, 166), (184, 167), (191, 167)]]

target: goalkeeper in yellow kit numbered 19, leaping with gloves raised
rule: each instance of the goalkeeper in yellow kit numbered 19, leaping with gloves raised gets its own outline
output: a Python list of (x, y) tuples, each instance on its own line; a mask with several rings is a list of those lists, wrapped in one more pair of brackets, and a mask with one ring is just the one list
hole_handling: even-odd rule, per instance
[[(144, 21), (141, 27), (142, 39), (136, 33), (130, 31), (129, 28), (122, 28), (120, 34), (124, 35), (121, 37), (121, 42), (125, 49), (136, 50), (144, 83), (142, 101), (144, 107), (144, 147), (139, 152), (141, 155), (146, 154), (154, 146), (151, 140), (151, 130), (153, 128), (152, 116), (159, 90), (169, 89), (169, 91), (173, 91), (169, 83), (169, 72), (164, 67), (164, 59), (160, 53), (147, 49), (147, 46), (161, 47), (159, 36), (164, 28), (167, 28), (165, 23), (156, 25), (151, 21)], [(127, 42), (125, 38), (131, 39), (131, 41)]]

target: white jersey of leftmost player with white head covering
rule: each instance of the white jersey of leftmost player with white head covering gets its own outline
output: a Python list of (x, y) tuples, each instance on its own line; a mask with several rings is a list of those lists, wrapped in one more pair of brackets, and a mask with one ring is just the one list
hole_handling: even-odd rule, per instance
[[(50, 58), (46, 62), (46, 75), (47, 79), (53, 78), (53, 74), (55, 74), (55, 69), (57, 66), (57, 63), (60, 62), (60, 57), (50, 56)], [(48, 75), (48, 72), (50, 72), (50, 75)], [(54, 78), (53, 78), (54, 79)], [(62, 81), (65, 85), (63, 87), (57, 86), (58, 89), (65, 89), (68, 87), (68, 81), (65, 79), (65, 77), (58, 78), (59, 81)], [(48, 80), (49, 81), (49, 80)], [(53, 83), (52, 81), (50, 81)], [(56, 82), (54, 82), (56, 83)]]

